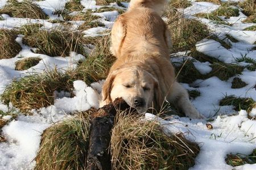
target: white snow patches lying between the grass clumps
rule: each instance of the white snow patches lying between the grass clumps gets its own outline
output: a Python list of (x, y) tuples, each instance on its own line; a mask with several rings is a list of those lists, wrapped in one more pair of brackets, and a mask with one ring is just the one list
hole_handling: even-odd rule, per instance
[[(58, 19), (59, 16), (52, 15), (54, 10), (63, 10), (65, 0), (47, 0), (36, 2), (43, 10), (50, 16), (51, 19)], [(5, 5), (5, 0), (0, 0), (0, 8)], [(101, 6), (97, 6), (95, 1), (81, 1), (84, 10), (95, 10)], [(193, 2), (191, 7), (184, 9), (184, 14), (187, 18), (195, 18), (193, 14), (199, 12), (211, 12), (218, 8), (209, 2)], [(123, 3), (127, 6), (127, 3)], [(117, 5), (115, 3), (112, 6)], [(118, 8), (118, 7), (117, 7)], [(182, 10), (182, 9), (180, 9)], [(101, 35), (106, 29), (110, 29), (115, 18), (118, 15), (117, 11), (98, 13), (102, 17), (101, 22), (105, 27), (91, 28), (84, 31), (85, 36), (98, 36)], [(11, 18), (8, 15), (2, 15), (4, 20), (0, 20), (0, 28), (17, 28), (27, 23), (42, 23), (44, 28), (50, 29), (57, 27), (59, 24), (52, 24), (47, 20), (38, 19), (21, 19)], [(199, 52), (207, 54), (208, 56), (218, 58), (222, 62), (234, 63), (237, 58), (246, 56), (256, 59), (256, 50), (251, 50), (256, 41), (255, 31), (242, 31), (243, 29), (255, 25), (253, 23), (242, 23), (246, 16), (240, 12), (238, 17), (230, 17), (226, 19), (232, 25), (217, 25), (210, 22), (208, 19), (197, 18), (201, 22), (208, 25), (208, 27), (216, 33), (220, 38), (225, 35), (230, 35), (239, 40), (238, 42), (231, 42), (232, 48), (225, 49), (217, 41), (205, 39), (197, 42), (196, 48)], [(81, 23), (74, 22), (74, 28)], [(16, 39), (22, 46), (22, 51), (14, 58), (0, 60), (0, 94), (3, 93), (7, 84), (11, 83), (14, 78), (25, 76), (33, 73), (42, 73), (49, 67), (57, 67), (63, 70), (76, 67), (77, 61), (85, 59), (80, 54), (71, 53), (66, 57), (49, 57), (44, 54), (31, 52), (31, 48), (22, 44), (22, 35)], [(38, 65), (31, 67), (25, 71), (15, 71), (15, 62), (24, 57), (41, 57), (42, 61)], [(183, 58), (182, 56), (180, 58)], [(175, 60), (179, 60), (175, 58)], [(211, 71), (210, 63), (208, 62), (194, 62), (196, 69), (201, 74), (207, 74)], [(241, 62), (241, 65), (248, 63)], [(213, 117), (213, 129), (208, 130), (205, 125), (205, 120), (191, 120), (189, 118), (174, 117), (170, 120), (158, 121), (167, 131), (178, 132), (182, 131), (187, 133), (187, 137), (191, 141), (200, 143), (201, 151), (196, 158), (196, 165), (191, 169), (256, 169), (256, 164), (242, 165), (241, 167), (230, 167), (225, 163), (226, 154), (241, 153), (250, 154), (256, 148), (256, 121), (249, 120), (245, 111), (237, 113), (233, 110), (232, 106), (220, 106), (218, 102), (225, 95), (236, 95), (240, 97), (251, 97), (256, 100), (256, 71), (249, 71), (244, 69), (242, 74), (239, 75), (247, 86), (243, 88), (233, 89), (232, 80), (222, 81), (217, 77), (211, 77), (206, 80), (196, 80), (193, 87), (188, 84), (183, 84), (188, 90), (199, 90), (201, 95), (193, 100), (193, 104), (204, 114), (205, 117)], [(98, 107), (97, 94), (93, 90), (101, 90), (102, 82), (85, 84), (77, 80), (74, 82), (75, 96), (59, 97), (55, 100), (55, 104), (47, 108), (33, 110), (33, 116), (18, 116), (15, 120), (11, 121), (8, 125), (2, 128), (2, 134), (7, 138), (7, 142), (0, 143), (0, 169), (33, 169), (35, 162), (34, 157), (39, 147), (40, 134), (53, 122), (63, 120), (69, 117), (67, 112), (85, 111), (90, 107)], [(58, 94), (57, 96), (65, 96), (65, 94)], [(4, 105), (0, 101), (0, 110), (7, 112), (11, 109), (9, 106)], [(230, 116), (231, 114), (236, 114)], [(229, 115), (229, 116), (228, 116)], [(250, 113), (251, 116), (256, 115), (256, 109)], [(9, 119), (10, 117), (3, 117)], [(154, 119), (154, 115), (146, 114), (146, 118)]]

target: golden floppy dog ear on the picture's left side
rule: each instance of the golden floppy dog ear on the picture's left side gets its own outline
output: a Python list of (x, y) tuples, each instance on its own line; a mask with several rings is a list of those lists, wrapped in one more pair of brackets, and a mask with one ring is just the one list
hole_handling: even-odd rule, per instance
[(112, 87), (113, 87), (112, 85), (113, 85), (114, 79), (115, 79), (115, 74), (111, 73), (111, 74), (109, 74), (108, 78), (106, 78), (106, 81), (103, 84), (102, 101), (106, 100), (107, 101), (106, 103), (112, 102), (110, 94), (112, 91)]

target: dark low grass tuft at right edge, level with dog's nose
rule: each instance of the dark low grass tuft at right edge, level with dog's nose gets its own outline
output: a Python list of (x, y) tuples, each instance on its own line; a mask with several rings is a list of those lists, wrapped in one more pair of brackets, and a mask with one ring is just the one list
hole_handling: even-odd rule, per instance
[(251, 98), (237, 97), (235, 95), (225, 96), (220, 100), (220, 105), (233, 105), (236, 111), (245, 110), (248, 113), (256, 106), (256, 103)]

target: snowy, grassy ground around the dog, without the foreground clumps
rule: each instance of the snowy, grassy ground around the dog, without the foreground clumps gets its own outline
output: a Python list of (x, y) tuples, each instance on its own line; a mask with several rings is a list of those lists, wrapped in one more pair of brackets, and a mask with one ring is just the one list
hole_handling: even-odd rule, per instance
[[(108, 53), (112, 62), (106, 62), (101, 58), (107, 55), (105, 49), (101, 46), (97, 51), (95, 46), (102, 42), (108, 47), (114, 20), (129, 5), (86, 0), (25, 2), (38, 5), (32, 9), (42, 13), (24, 16), (15, 6), (17, 1), (9, 1), (14, 6), (6, 10), (8, 2), (0, 0), (4, 42), (0, 42), (0, 169), (33, 169), (44, 129), (75, 112), (98, 108), (106, 67), (113, 58)], [(199, 143), (196, 164), (190, 169), (256, 169), (255, 162), (232, 167), (225, 161), (228, 154), (246, 156), (256, 148), (255, 2), (180, 2), (171, 4), (175, 10), (168, 6), (162, 17), (174, 41), (170, 61), (207, 120), (178, 116), (163, 120), (150, 113), (145, 118)], [(101, 63), (90, 60), (94, 58)], [(76, 73), (82, 66), (88, 72)]]

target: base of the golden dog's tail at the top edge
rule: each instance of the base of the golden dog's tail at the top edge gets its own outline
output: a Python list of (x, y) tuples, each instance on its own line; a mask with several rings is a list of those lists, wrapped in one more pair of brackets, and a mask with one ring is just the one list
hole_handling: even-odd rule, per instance
[(168, 1), (169, 0), (131, 0), (129, 10), (139, 7), (146, 7), (154, 10), (159, 15), (162, 15), (164, 7), (166, 7)]

